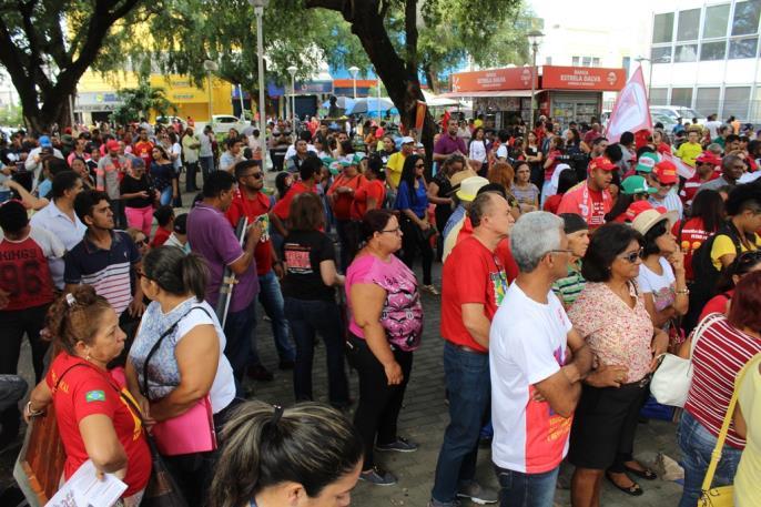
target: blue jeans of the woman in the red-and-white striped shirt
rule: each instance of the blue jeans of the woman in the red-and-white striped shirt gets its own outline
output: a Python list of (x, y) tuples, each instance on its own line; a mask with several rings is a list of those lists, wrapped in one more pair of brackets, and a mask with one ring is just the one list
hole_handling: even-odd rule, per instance
[[(677, 443), (682, 452), (681, 465), (684, 468), (684, 490), (679, 507), (694, 507), (700, 498), (700, 488), (711, 462), (717, 437), (684, 412), (677, 428)], [(724, 444), (719, 466), (713, 475), (713, 486), (727, 486), (734, 481), (741, 455), (742, 450)]]

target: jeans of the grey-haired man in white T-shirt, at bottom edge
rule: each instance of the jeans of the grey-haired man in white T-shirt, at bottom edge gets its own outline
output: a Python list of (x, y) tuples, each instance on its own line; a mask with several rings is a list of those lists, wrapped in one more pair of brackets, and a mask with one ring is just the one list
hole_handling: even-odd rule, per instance
[(499, 507), (552, 507), (559, 466), (544, 474), (524, 474), (496, 465), (494, 469), (499, 479)]

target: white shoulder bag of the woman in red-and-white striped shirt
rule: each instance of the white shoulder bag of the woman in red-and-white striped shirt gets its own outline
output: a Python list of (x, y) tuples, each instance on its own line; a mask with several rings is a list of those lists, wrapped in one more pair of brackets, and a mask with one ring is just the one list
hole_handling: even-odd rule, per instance
[(694, 354), (694, 347), (706, 329), (718, 318), (721, 318), (721, 314), (710, 314), (698, 325), (692, 334), (690, 357), (687, 359), (674, 354), (667, 353), (661, 355), (660, 365), (650, 382), (650, 393), (652, 393), (658, 403), (676, 407), (684, 406), (687, 394), (690, 392), (690, 384), (692, 384), (692, 354)]

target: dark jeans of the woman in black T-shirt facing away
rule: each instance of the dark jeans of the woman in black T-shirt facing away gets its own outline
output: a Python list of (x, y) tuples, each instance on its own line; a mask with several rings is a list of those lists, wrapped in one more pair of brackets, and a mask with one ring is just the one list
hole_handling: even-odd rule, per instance
[(296, 402), (312, 400), (312, 363), (318, 333), (325, 342), (331, 405), (348, 404), (348, 381), (344, 363), (344, 337), (338, 305), (332, 301), (285, 298), (288, 324), (296, 342), (293, 389)]

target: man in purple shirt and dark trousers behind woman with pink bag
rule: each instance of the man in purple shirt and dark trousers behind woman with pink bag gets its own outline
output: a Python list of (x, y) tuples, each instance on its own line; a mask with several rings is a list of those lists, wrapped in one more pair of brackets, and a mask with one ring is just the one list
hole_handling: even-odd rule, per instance
[[(224, 268), (235, 274), (236, 284), (230, 301), (224, 334), (227, 338), (224, 354), (235, 375), (239, 395), (252, 352), (251, 338), (256, 325), (254, 304), (258, 293), (258, 277), (254, 249), (262, 236), (255, 223), (246, 232), (245, 247), (235, 237), (224, 212), (233, 201), (235, 179), (226, 171), (214, 171), (203, 184), (203, 201), (187, 215), (187, 242), (191, 250), (206, 260), (210, 271), (206, 301), (216, 306)], [(260, 364), (261, 365), (261, 364)]]

